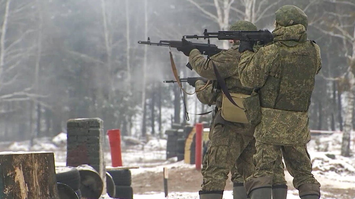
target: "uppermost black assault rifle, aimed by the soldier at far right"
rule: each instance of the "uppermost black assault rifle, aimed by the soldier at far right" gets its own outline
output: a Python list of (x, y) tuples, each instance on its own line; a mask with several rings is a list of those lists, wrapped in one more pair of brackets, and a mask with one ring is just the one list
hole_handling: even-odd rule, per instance
[(274, 39), (274, 36), (269, 30), (257, 30), (257, 31), (218, 31), (218, 32), (207, 32), (204, 29), (202, 36), (199, 35), (184, 35), (185, 39), (208, 39), (217, 38), (219, 40), (241, 40), (241, 41), (260, 41), (262, 44), (267, 44)]

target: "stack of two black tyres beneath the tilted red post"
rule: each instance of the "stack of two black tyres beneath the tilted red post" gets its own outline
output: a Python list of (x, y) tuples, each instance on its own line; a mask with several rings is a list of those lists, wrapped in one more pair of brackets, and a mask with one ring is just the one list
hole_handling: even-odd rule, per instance
[(131, 171), (128, 169), (108, 171), (112, 176), (116, 187), (114, 198), (133, 199), (133, 189)]

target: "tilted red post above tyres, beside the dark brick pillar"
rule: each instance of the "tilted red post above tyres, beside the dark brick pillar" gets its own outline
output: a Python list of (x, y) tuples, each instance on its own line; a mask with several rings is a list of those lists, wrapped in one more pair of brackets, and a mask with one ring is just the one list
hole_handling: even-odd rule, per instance
[(121, 131), (119, 129), (111, 129), (107, 131), (109, 136), (112, 166), (122, 166), (121, 156)]

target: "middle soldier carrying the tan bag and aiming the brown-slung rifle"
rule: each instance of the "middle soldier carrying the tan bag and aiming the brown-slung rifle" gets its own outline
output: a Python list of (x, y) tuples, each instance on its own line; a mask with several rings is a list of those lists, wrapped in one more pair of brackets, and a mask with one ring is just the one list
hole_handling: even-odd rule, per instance
[[(247, 21), (239, 21), (239, 30), (257, 30), (256, 26)], [(183, 46), (178, 48), (189, 56), (192, 68), (203, 78), (216, 80), (212, 62), (208, 62), (190, 42), (182, 39)], [(237, 41), (235, 41), (237, 42)], [(210, 59), (219, 70), (228, 90), (233, 93), (250, 95), (252, 89), (241, 85), (237, 66), (240, 60), (238, 46), (234, 45)], [(214, 89), (216, 86), (214, 85)], [(216, 106), (219, 109), (213, 123), (210, 151), (207, 168), (204, 171), (200, 199), (222, 199), (226, 179), (231, 168), (235, 166), (244, 180), (254, 173), (252, 155), (255, 153), (254, 127), (251, 124), (234, 123), (222, 118), (222, 95), (217, 95)]]

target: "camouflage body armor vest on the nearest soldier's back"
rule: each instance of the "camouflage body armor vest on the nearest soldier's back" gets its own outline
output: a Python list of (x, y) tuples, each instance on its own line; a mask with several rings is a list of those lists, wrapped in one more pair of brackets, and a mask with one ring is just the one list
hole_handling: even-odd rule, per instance
[(279, 74), (268, 76), (259, 91), (265, 108), (307, 111), (315, 84), (317, 51), (312, 41), (289, 47), (275, 42), (280, 53)]

